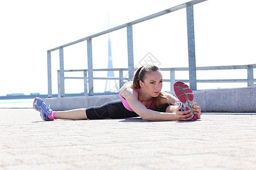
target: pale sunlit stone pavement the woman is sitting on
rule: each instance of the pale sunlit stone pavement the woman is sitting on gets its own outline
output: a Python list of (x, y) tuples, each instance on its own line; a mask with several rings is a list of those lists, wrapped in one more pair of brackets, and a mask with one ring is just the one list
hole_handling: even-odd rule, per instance
[(0, 109), (0, 169), (256, 169), (256, 114), (57, 120)]

